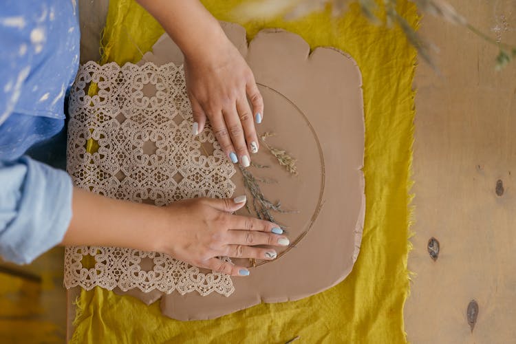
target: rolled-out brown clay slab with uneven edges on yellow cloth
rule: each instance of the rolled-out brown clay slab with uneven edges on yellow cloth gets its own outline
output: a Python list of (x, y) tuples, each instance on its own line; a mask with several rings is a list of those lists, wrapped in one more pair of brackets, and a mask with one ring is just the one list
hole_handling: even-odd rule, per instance
[[(248, 45), (244, 28), (222, 26), (246, 58), (264, 98), (264, 119), (256, 126), (257, 133), (276, 133), (268, 144), (297, 158), (299, 175), (295, 176), (279, 166), (260, 142), (252, 162), (270, 168), (251, 166), (249, 171), (276, 181), (261, 183), (261, 191), (269, 200), (280, 201), (284, 209), (296, 211), (273, 215), (288, 226), (290, 241), (299, 242), (288, 252), (276, 248), (280, 257), (250, 267), (249, 277), (234, 277), (235, 292), (230, 297), (117, 291), (146, 303), (161, 298), (163, 314), (173, 319), (212, 319), (260, 302), (308, 297), (345, 279), (360, 250), (365, 215), (364, 121), (356, 63), (332, 48), (319, 47), (310, 54), (308, 43), (289, 32), (264, 30)], [(181, 64), (183, 56), (164, 34), (140, 65), (147, 61)], [(232, 180), (235, 195), (244, 195), (239, 171)], [(239, 214), (249, 215), (245, 208)], [(250, 265), (247, 259), (238, 262)]]

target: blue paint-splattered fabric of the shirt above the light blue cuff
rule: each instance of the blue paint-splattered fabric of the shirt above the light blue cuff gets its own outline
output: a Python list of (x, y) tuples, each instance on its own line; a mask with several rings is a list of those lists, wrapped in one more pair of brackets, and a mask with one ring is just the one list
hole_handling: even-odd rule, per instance
[(75, 0), (0, 1), (0, 160), (63, 128), (79, 41)]

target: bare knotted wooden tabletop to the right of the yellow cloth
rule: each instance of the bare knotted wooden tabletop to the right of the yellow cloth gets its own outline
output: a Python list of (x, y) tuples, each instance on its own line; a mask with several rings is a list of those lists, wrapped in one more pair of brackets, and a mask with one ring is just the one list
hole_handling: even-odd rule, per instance
[[(516, 43), (516, 1), (450, 2), (477, 28)], [(516, 62), (495, 72), (497, 47), (441, 19), (425, 16), (420, 32), (440, 47), (441, 75), (424, 64), (416, 72), (408, 339), (514, 343)], [(431, 237), (440, 241), (436, 261)]]

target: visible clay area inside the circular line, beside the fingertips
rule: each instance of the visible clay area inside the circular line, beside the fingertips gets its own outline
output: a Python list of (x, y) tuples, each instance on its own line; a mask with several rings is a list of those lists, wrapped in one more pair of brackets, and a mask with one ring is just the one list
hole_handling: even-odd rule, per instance
[[(288, 248), (275, 246), (277, 259), (288, 254), (312, 228), (321, 206), (324, 189), (324, 160), (321, 145), (314, 128), (305, 114), (280, 92), (258, 85), (270, 118), (257, 125), (257, 135), (265, 138), (260, 142), (259, 153), (252, 154), (253, 166), (247, 169), (256, 180), (262, 194), (272, 203), (281, 204), (281, 211), (270, 211), (275, 222), (282, 226), (290, 239)], [(279, 115), (279, 116), (278, 116)], [(279, 164), (270, 149), (285, 151), (294, 158), (297, 174)], [(237, 213), (256, 216), (255, 197), (244, 188), (244, 177), (240, 171), (233, 178), (237, 186), (235, 195), (246, 193), (248, 206)], [(267, 246), (263, 246), (267, 247)], [(272, 246), (270, 246), (272, 248)], [(249, 261), (233, 259), (235, 264), (258, 268), (270, 261)]]

